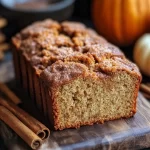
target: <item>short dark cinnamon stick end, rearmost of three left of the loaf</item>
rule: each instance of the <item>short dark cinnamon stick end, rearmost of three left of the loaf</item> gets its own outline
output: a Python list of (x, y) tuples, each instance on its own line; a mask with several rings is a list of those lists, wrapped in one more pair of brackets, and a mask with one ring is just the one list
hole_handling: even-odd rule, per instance
[(18, 105), (21, 100), (6, 86), (4, 83), (0, 83), (0, 91), (3, 92), (14, 104)]

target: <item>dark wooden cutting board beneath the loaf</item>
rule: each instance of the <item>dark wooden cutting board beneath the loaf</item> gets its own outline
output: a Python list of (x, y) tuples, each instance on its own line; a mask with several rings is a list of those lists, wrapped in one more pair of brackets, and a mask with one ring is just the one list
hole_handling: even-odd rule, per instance
[[(0, 80), (6, 82), (13, 78), (12, 63), (7, 61), (0, 66)], [(12, 86), (15, 89), (15, 84), (12, 84)], [(20, 98), (24, 99), (24, 96), (21, 94)], [(25, 99), (30, 102), (29, 98)], [(79, 129), (52, 131), (49, 140), (43, 143), (39, 150), (129, 150), (148, 148), (150, 147), (150, 102), (141, 93), (139, 93), (137, 101), (137, 113), (134, 117), (108, 121), (93, 126), (83, 126)], [(32, 106), (29, 109), (37, 112), (36, 108)], [(0, 137), (4, 139), (3, 143), (8, 149), (30, 149), (3, 122), (0, 123), (0, 128)]]

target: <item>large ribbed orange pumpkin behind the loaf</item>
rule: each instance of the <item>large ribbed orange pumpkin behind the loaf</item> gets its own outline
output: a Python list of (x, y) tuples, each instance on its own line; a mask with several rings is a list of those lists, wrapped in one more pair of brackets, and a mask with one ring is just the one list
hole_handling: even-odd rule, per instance
[(150, 0), (93, 0), (92, 17), (101, 35), (127, 46), (148, 31)]

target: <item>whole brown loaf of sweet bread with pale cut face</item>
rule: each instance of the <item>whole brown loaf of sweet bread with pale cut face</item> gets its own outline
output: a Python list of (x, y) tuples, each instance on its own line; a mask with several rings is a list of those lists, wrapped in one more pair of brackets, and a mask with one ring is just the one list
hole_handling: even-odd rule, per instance
[(135, 114), (137, 66), (92, 29), (48, 19), (12, 43), (17, 81), (56, 130)]

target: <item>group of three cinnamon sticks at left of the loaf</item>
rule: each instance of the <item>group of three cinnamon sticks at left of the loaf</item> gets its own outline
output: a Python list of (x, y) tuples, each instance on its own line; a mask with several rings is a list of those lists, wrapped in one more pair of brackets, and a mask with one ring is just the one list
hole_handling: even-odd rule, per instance
[(32, 149), (37, 149), (49, 135), (49, 129), (17, 106), (20, 99), (0, 83), (0, 91), (10, 100), (0, 97), (0, 119), (12, 128)]

